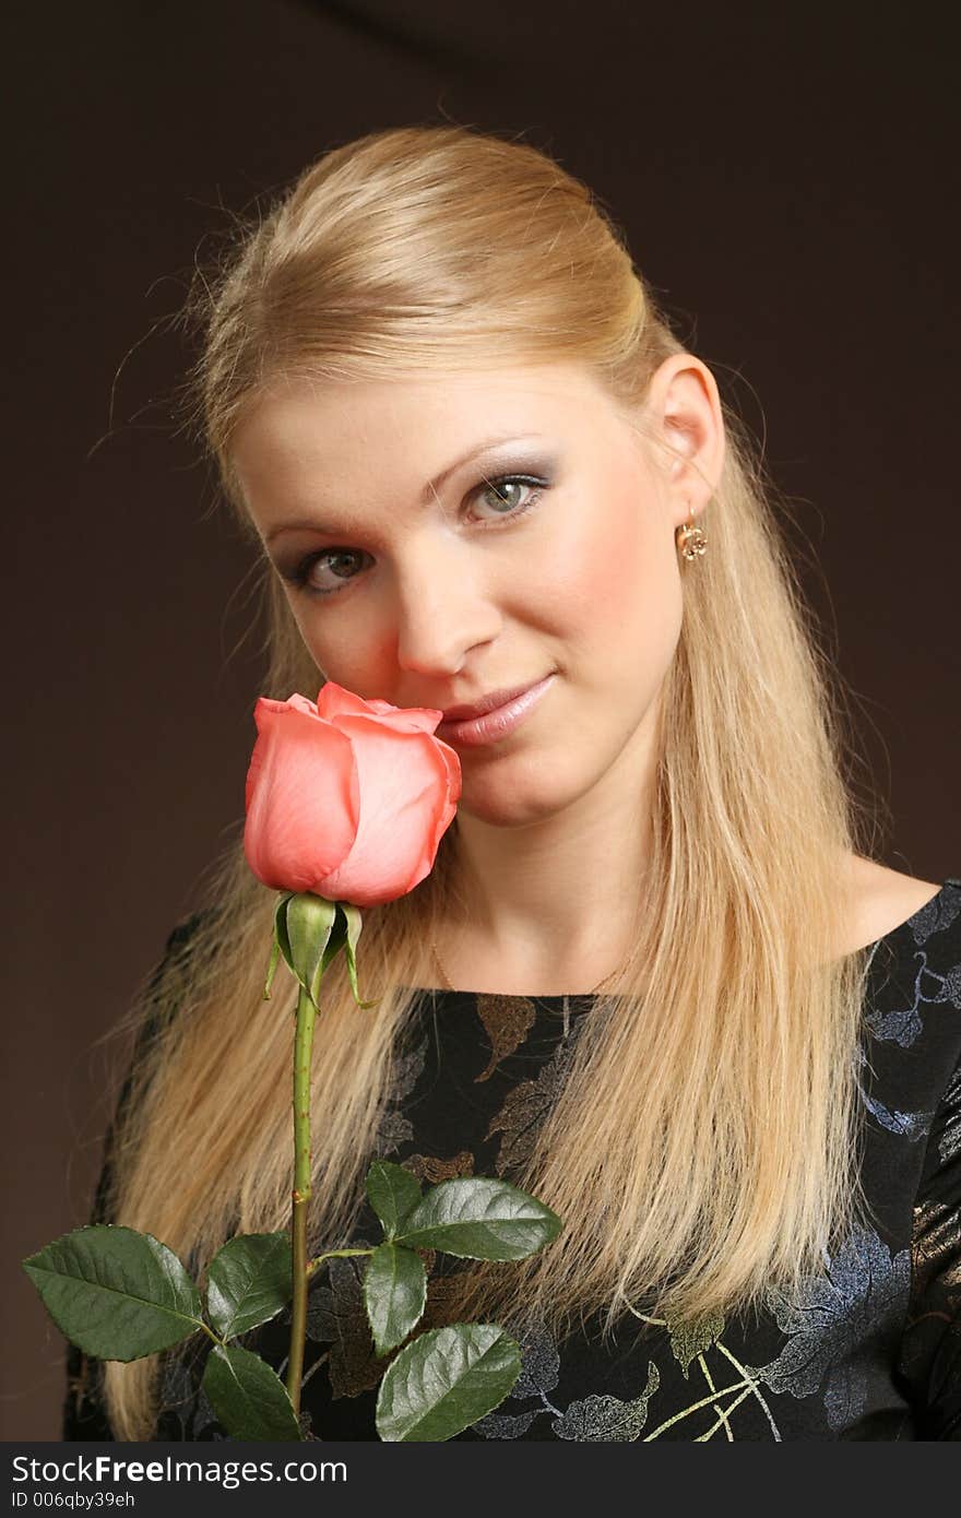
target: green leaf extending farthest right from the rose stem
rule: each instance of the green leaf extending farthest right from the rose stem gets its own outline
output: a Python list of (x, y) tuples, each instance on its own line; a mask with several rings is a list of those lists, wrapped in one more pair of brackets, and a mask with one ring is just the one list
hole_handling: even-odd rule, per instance
[(507, 1181), (462, 1176), (425, 1192), (395, 1243), (466, 1260), (524, 1260), (560, 1233), (560, 1217)]

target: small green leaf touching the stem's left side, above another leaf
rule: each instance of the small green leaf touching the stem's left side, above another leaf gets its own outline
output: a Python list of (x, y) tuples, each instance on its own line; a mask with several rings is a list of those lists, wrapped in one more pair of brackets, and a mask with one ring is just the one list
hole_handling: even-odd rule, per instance
[(290, 1234), (237, 1234), (206, 1272), (206, 1318), (222, 1339), (269, 1322), (293, 1295)]

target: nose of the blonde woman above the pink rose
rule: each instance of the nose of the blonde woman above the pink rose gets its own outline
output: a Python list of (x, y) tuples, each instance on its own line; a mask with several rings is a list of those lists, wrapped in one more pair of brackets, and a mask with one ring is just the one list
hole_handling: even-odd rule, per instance
[[(460, 551), (458, 551), (460, 550)], [(422, 545), (398, 571), (398, 665), (425, 676), (457, 674), (501, 618), (483, 566), (463, 543)]]

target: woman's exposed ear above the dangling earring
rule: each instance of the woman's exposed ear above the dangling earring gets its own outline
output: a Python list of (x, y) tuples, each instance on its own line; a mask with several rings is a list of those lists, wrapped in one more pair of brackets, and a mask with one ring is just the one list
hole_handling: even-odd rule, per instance
[(721, 478), (724, 419), (714, 375), (694, 354), (671, 354), (654, 372), (645, 399), (676, 527), (698, 516)]

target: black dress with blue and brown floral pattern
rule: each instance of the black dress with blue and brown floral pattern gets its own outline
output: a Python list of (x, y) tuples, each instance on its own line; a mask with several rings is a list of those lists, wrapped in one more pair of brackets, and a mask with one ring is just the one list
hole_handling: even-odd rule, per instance
[[(175, 929), (169, 950), (190, 934)], [(961, 880), (947, 879), (870, 950), (861, 1044), (864, 1187), (874, 1225), (826, 1260), (797, 1299), (767, 1293), (750, 1321), (697, 1330), (638, 1315), (601, 1343), (521, 1336), (512, 1395), (462, 1439), (961, 1439)], [(571, 1060), (584, 996), (424, 991), (375, 1154), (436, 1184), (515, 1179)], [(99, 1196), (103, 1195), (103, 1179)], [(94, 1217), (99, 1216), (94, 1211)], [(380, 1230), (361, 1213), (355, 1243)], [(424, 1324), (443, 1322), (445, 1269), (428, 1257)], [(378, 1360), (363, 1261), (311, 1283), (302, 1428), (377, 1439)], [(288, 1313), (240, 1342), (282, 1375)], [(507, 1325), (510, 1327), (510, 1325)], [(161, 1441), (223, 1439), (199, 1389), (203, 1345), (165, 1363)], [(112, 1439), (99, 1365), (68, 1348), (65, 1439)]]

